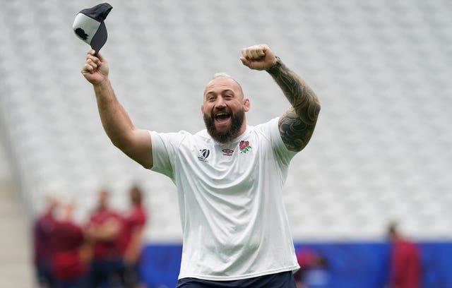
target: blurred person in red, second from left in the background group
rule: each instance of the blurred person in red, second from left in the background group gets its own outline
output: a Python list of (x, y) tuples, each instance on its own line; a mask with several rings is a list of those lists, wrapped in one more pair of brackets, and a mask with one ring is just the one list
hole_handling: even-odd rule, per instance
[(50, 237), (52, 277), (55, 288), (85, 288), (85, 243), (82, 228), (73, 221), (73, 203), (61, 204)]

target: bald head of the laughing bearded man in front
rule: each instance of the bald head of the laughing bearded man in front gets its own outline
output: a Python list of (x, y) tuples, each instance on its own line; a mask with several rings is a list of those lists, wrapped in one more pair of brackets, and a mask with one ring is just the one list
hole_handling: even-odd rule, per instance
[(220, 143), (237, 138), (246, 129), (249, 100), (240, 84), (225, 73), (216, 73), (204, 90), (201, 112), (210, 136)]

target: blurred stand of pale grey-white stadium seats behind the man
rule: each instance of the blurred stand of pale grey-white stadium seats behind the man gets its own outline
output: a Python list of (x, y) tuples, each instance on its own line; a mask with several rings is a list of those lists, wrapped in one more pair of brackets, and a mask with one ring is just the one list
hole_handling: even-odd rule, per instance
[[(314, 88), (321, 116), (285, 186), (296, 241), (382, 241), (392, 220), (418, 241), (451, 241), (450, 1), (109, 3), (102, 54), (136, 126), (203, 128), (202, 91), (218, 71), (251, 98), (249, 124), (278, 116), (288, 105), (278, 87), (239, 62), (251, 44), (269, 44)], [(81, 76), (88, 46), (71, 25), (95, 4), (2, 2), (1, 137), (23, 205), (32, 217), (58, 191), (77, 200), (82, 222), (97, 188), (107, 186), (124, 209), (124, 192), (140, 183), (151, 215), (146, 240), (177, 244), (175, 188), (114, 148)]]

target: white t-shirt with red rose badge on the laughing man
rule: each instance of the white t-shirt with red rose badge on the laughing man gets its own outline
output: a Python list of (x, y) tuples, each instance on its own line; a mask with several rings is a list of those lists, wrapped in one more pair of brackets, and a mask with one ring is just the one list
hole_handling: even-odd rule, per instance
[(179, 279), (239, 280), (299, 268), (283, 184), (296, 152), (278, 118), (230, 143), (206, 130), (150, 132), (153, 168), (177, 186), (183, 250)]

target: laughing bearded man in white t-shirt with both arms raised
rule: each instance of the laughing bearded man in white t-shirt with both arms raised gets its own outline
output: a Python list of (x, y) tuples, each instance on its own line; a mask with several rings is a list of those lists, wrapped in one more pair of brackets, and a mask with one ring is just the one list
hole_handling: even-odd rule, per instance
[(194, 135), (136, 128), (114, 95), (102, 55), (91, 50), (83, 66), (112, 143), (177, 186), (183, 232), (177, 287), (295, 287), (292, 272), (299, 265), (281, 194), (320, 104), (268, 45), (242, 49), (240, 59), (270, 73), (291, 107), (266, 124), (247, 126), (249, 100), (236, 80), (218, 74), (203, 93), (207, 129)]

